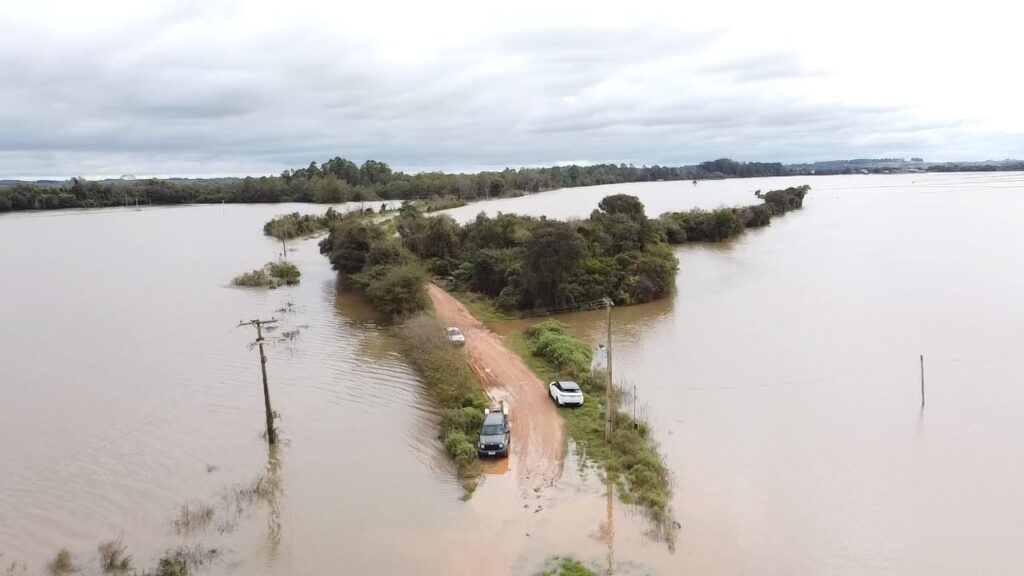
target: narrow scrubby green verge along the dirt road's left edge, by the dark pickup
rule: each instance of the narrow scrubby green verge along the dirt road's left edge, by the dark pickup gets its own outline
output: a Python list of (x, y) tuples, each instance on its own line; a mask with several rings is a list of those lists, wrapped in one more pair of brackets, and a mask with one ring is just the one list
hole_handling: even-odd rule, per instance
[(476, 435), (488, 406), (466, 358), (444, 337), (436, 320), (420, 315), (396, 332), (402, 355), (423, 379), (427, 393), (441, 408), (440, 440), (455, 461), (467, 495), (476, 489), (480, 461)]

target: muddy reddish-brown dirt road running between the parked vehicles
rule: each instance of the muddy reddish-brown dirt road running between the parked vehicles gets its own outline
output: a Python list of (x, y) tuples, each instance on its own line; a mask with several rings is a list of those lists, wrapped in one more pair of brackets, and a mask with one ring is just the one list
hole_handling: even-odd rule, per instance
[(466, 335), (466, 357), (487, 395), (510, 407), (509, 465), (519, 474), (524, 488), (550, 486), (562, 472), (565, 430), (547, 386), (462, 302), (433, 284), (427, 286), (427, 293), (437, 320), (444, 326), (457, 326)]

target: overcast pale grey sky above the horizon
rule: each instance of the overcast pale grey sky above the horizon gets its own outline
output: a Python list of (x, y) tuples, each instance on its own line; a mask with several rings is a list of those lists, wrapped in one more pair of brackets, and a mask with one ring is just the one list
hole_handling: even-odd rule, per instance
[(0, 0), (0, 178), (1024, 157), (1019, 2), (699, 4)]

